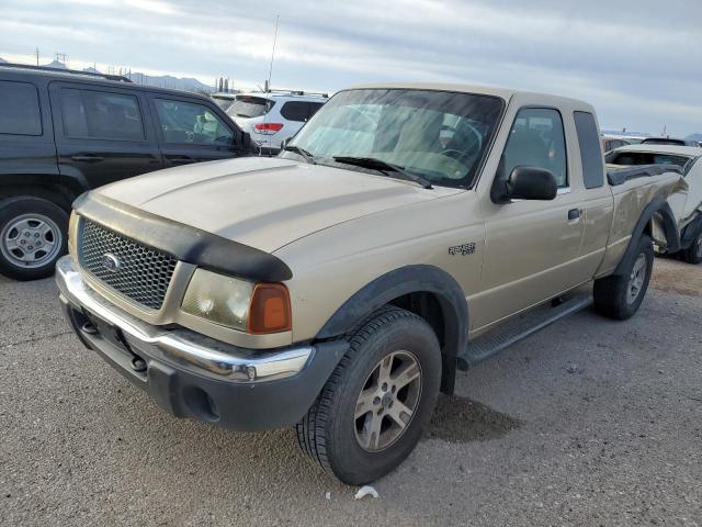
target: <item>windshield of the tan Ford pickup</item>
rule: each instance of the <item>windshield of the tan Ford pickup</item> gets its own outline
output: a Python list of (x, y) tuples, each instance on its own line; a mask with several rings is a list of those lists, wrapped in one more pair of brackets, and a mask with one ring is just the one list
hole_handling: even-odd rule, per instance
[(503, 101), (491, 96), (348, 90), (331, 98), (291, 145), (309, 153), (318, 164), (335, 164), (335, 158), (378, 159), (433, 184), (469, 187), (502, 108)]

